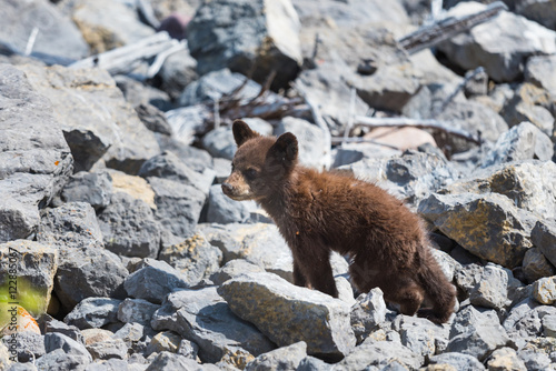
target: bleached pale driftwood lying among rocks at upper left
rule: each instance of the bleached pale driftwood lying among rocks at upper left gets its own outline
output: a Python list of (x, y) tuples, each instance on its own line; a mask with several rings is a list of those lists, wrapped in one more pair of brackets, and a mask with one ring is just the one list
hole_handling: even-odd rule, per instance
[(179, 44), (178, 40), (170, 39), (168, 32), (161, 31), (132, 44), (82, 59), (69, 67), (100, 67), (108, 70), (110, 74), (127, 73), (133, 69), (137, 62), (155, 57), (165, 50), (173, 48), (176, 44)]

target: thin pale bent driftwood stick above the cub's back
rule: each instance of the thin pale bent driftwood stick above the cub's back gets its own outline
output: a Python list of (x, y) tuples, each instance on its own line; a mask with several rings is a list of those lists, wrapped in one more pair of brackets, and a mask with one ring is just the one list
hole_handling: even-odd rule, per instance
[(417, 129), (433, 129), (446, 132), (450, 136), (458, 137), (465, 139), (469, 142), (481, 144), (480, 137), (475, 138), (473, 134), (468, 133), (465, 130), (457, 128), (448, 128), (445, 122), (438, 120), (416, 120), (409, 118), (368, 118), (364, 116), (357, 116), (355, 118), (356, 126), (364, 126), (370, 128), (404, 128), (411, 127)]

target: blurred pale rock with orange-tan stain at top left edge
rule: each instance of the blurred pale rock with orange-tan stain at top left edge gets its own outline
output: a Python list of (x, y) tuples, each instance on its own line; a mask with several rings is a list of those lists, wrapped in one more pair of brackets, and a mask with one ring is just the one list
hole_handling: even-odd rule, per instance
[(155, 33), (135, 7), (110, 0), (66, 1), (64, 11), (79, 27), (93, 53), (122, 47)]

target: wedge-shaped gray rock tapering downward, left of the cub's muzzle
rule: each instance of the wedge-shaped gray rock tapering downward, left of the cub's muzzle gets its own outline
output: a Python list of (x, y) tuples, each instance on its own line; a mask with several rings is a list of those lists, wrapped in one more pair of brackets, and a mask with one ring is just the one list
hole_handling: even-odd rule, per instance
[(156, 193), (155, 214), (160, 223), (177, 237), (191, 235), (199, 221), (206, 193), (169, 179), (150, 177), (148, 181)]

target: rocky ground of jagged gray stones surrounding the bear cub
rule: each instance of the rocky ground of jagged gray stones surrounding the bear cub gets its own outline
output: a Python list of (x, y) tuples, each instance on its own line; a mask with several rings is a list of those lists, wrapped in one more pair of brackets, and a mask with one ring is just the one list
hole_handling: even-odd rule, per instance
[[(486, 6), (289, 1), (0, 0), (0, 370), (556, 370), (556, 1), (415, 53)], [(72, 66), (158, 30), (187, 43), (153, 76)], [(221, 192), (236, 118), (418, 212), (450, 321), (355, 297), (336, 254), (340, 299), (295, 287), (271, 220)]]

